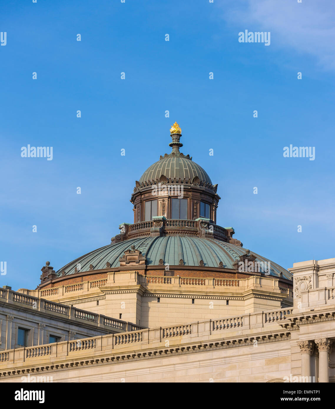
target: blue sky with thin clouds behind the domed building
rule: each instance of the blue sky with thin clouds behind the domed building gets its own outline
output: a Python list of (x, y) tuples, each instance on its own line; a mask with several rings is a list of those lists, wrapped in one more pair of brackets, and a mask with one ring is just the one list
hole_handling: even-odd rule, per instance
[[(181, 151), (218, 183), (217, 223), (244, 247), (286, 268), (335, 256), (335, 4), (1, 7), (1, 285), (35, 288), (45, 261), (58, 270), (133, 222), (135, 180), (171, 151), (175, 121)], [(270, 31), (270, 46), (239, 43), (245, 29)], [(52, 146), (53, 159), (22, 158), (28, 144)], [(315, 146), (315, 160), (284, 158), (290, 144)]]

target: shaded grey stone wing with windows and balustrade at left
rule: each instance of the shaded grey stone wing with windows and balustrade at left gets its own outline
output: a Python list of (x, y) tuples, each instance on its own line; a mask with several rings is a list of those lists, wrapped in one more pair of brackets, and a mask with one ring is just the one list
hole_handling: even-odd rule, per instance
[(63, 342), (142, 328), (10, 289), (0, 289), (0, 306), (0, 351), (20, 348), (19, 329), (30, 347), (49, 344), (50, 336)]

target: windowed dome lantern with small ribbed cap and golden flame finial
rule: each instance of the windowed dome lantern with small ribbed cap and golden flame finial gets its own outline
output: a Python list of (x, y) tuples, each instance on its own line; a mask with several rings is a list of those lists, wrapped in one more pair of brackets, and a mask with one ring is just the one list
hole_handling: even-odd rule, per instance
[(181, 131), (175, 122), (170, 128), (171, 153), (161, 155), (136, 180), (130, 200), (134, 205), (134, 223), (154, 220), (156, 216), (167, 220), (203, 217), (216, 222), (218, 185), (212, 184), (207, 172), (190, 155), (179, 151), (183, 146)]

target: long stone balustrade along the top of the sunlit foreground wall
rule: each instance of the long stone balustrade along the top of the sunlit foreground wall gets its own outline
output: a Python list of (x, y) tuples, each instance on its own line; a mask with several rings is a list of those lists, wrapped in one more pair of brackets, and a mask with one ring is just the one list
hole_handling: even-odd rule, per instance
[[(124, 333), (63, 341), (56, 344), (23, 347), (15, 350), (11, 349), (0, 353), (0, 369), (3, 369), (9, 361), (11, 365), (15, 367), (16, 364), (19, 365), (22, 364), (23, 361), (28, 362), (30, 358), (35, 358), (34, 365), (36, 365), (36, 359), (42, 359), (42, 357), (44, 359), (48, 357), (49, 362), (54, 362), (56, 358), (58, 360), (64, 359), (67, 356), (71, 357), (72, 354), (80, 354), (82, 351), (87, 351), (88, 349), (93, 351), (94, 356), (94, 354), (118, 350), (119, 348), (126, 348), (130, 345), (132, 353), (136, 349), (142, 350), (147, 348), (149, 343), (153, 347), (164, 348), (166, 346), (165, 339), (172, 341), (175, 339), (174, 342), (182, 347), (190, 342), (203, 339), (203, 337), (207, 337), (209, 341), (211, 339), (222, 339), (221, 331), (225, 331), (225, 338), (241, 336), (243, 339), (243, 335), (250, 334), (250, 330), (257, 328), (262, 332), (268, 328), (271, 334), (272, 331), (282, 330), (282, 327), (277, 324), (277, 321), (281, 321), (281, 324), (283, 324), (283, 321), (290, 314), (292, 314), (292, 309), (254, 312), (237, 317), (209, 319), (163, 328), (157, 327), (139, 330), (133, 326), (133, 331)], [(85, 357), (87, 357), (87, 352)]]

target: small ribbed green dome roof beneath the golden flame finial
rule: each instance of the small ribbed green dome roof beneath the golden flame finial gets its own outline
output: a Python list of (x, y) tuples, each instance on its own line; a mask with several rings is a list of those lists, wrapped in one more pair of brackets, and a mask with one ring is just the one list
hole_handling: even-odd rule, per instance
[(143, 173), (139, 182), (156, 180), (161, 175), (169, 179), (180, 178), (181, 180), (184, 178), (192, 180), (194, 176), (198, 176), (201, 182), (212, 184), (207, 172), (184, 156), (166, 156), (155, 162)]

